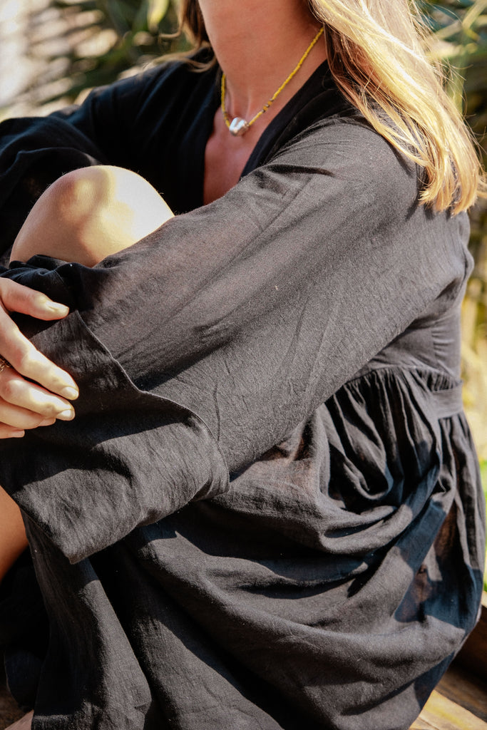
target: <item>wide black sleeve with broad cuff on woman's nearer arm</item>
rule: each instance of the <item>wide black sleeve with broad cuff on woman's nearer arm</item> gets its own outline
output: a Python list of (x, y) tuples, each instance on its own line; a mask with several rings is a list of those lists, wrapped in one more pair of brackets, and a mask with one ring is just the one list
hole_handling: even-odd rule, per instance
[(224, 491), (227, 468), (283, 439), (434, 299), (458, 296), (464, 216), (416, 196), (383, 139), (331, 119), (93, 269), (12, 269), (72, 307), (23, 326), (81, 395), (74, 421), (0, 442), (0, 483), (72, 561)]

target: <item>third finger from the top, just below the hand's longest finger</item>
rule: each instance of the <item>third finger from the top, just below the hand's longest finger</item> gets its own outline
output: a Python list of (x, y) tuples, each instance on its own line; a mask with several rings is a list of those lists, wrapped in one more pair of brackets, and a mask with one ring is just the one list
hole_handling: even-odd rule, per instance
[[(29, 420), (25, 420), (26, 414)], [(22, 416), (22, 420), (19, 420)], [(14, 420), (12, 420), (14, 418)], [(35, 422), (31, 425), (31, 419)], [(72, 420), (74, 409), (69, 401), (50, 393), (37, 383), (30, 383), (10, 368), (0, 374), (0, 422), (20, 429), (39, 426), (42, 418)]]

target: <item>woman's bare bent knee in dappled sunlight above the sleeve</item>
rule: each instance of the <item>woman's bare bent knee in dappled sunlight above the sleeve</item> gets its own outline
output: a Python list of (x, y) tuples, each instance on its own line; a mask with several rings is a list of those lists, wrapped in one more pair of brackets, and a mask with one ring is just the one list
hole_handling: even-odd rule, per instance
[(74, 170), (39, 198), (11, 258), (26, 261), (41, 253), (93, 266), (171, 217), (164, 199), (135, 172), (112, 166)]

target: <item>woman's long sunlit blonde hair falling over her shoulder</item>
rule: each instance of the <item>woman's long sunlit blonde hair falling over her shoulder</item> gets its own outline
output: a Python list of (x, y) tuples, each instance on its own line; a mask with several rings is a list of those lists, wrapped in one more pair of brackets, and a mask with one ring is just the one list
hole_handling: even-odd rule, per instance
[[(469, 208), (486, 181), (472, 134), (427, 55), (429, 34), (414, 1), (308, 0), (323, 23), (331, 74), (344, 96), (397, 150), (421, 167), (421, 201)], [(208, 37), (197, 0), (183, 0), (183, 28)]]

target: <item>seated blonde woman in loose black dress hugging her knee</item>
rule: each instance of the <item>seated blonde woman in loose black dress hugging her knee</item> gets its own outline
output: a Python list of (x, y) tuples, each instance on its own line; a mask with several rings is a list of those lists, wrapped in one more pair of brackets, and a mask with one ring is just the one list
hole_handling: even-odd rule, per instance
[[(70, 173), (16, 244), (58, 258), (1, 281), (4, 310), (59, 318), (21, 318), (28, 345), (2, 320), (0, 418), (25, 436), (0, 483), (35, 567), (2, 584), (9, 685), (34, 729), (407, 729), (480, 599), (458, 353), (478, 163), (402, 1), (183, 12), (218, 66), (203, 48), (199, 73), (3, 127), (12, 239), (99, 162), (180, 214), (63, 264), (127, 210), (114, 170), (79, 220), (100, 169)], [(33, 345), (74, 420), (35, 428), (76, 393)]]

